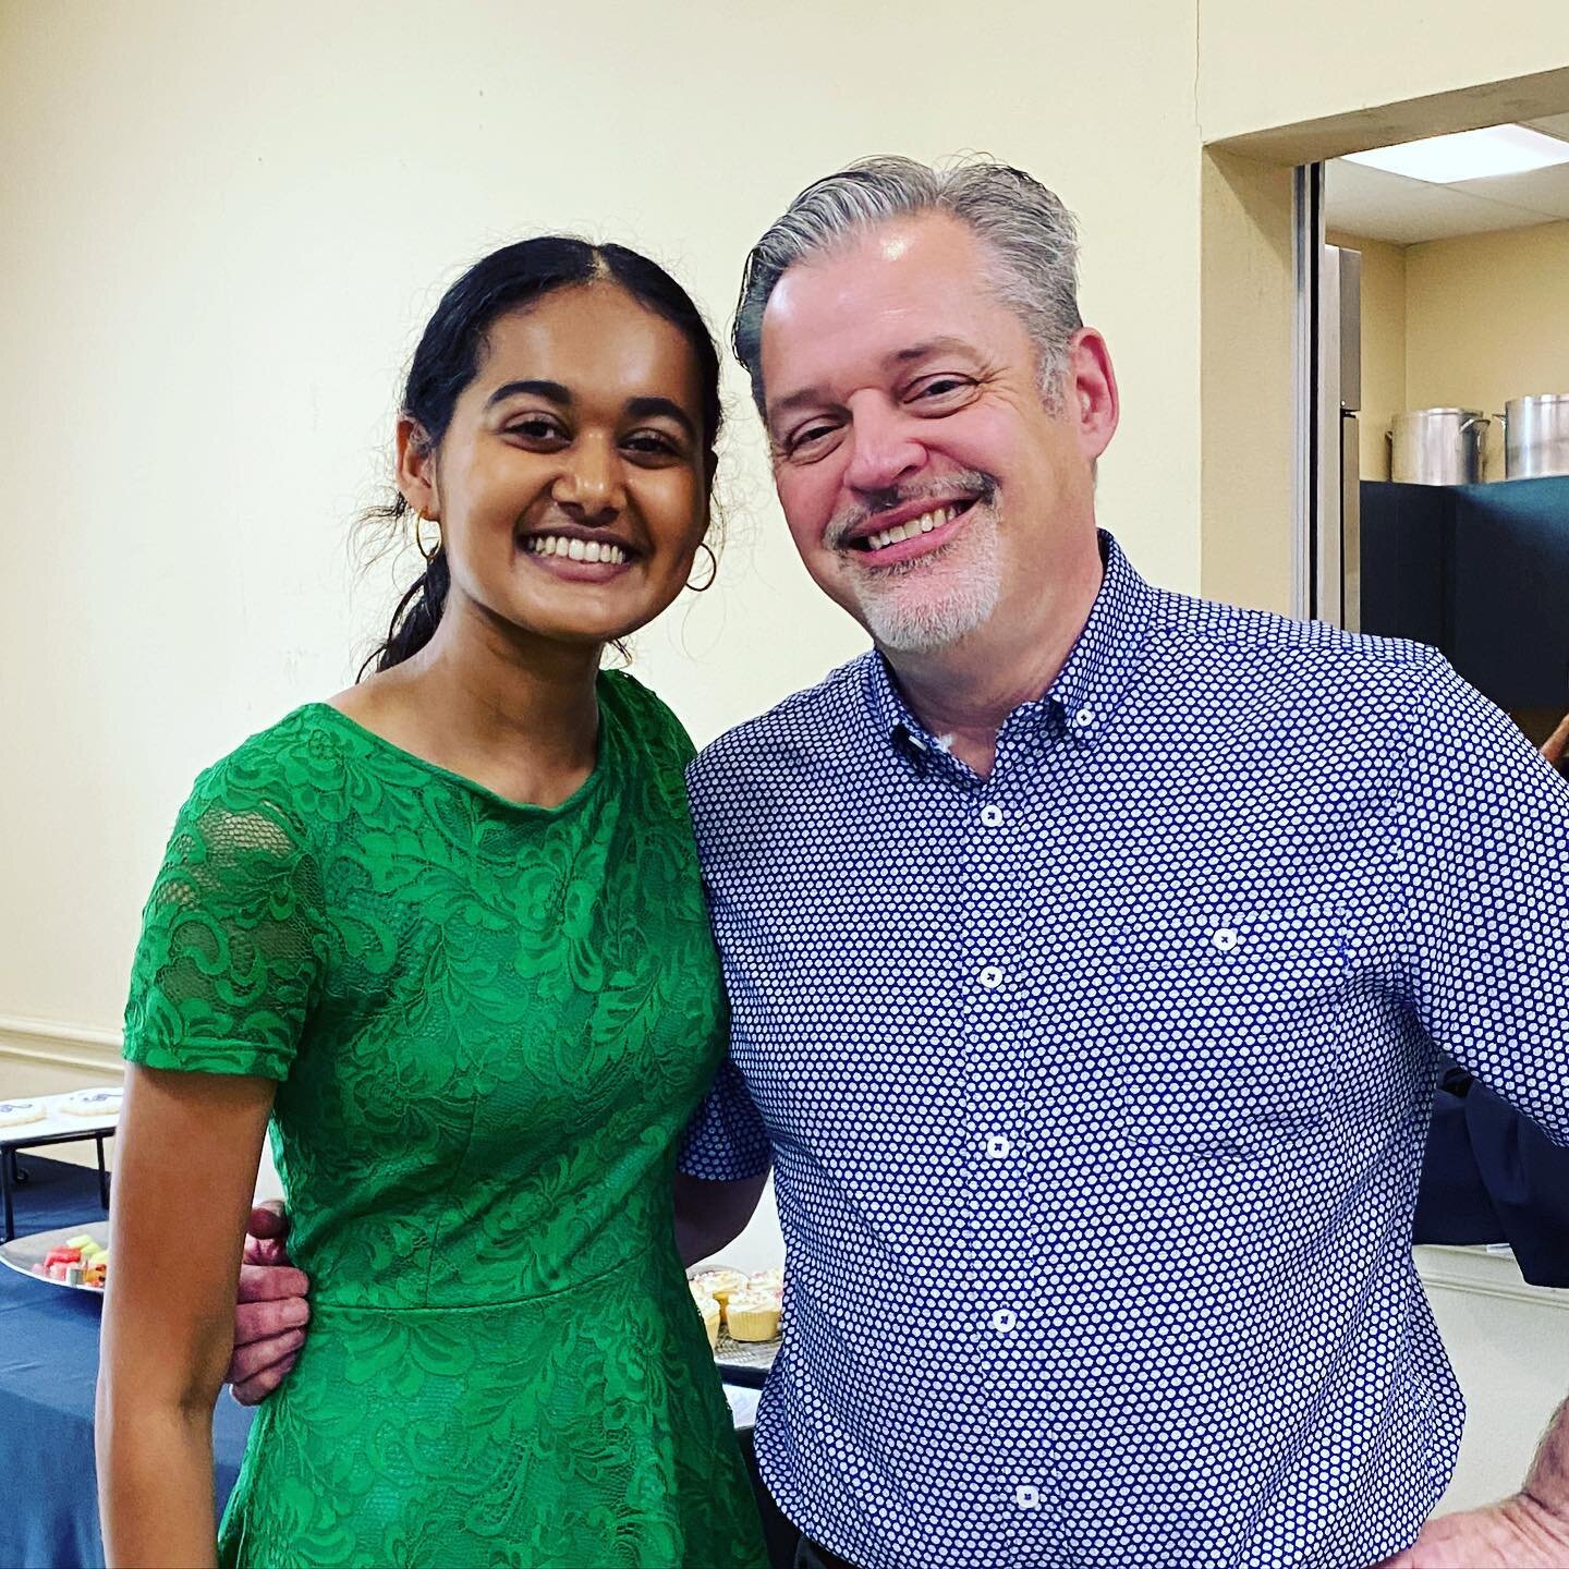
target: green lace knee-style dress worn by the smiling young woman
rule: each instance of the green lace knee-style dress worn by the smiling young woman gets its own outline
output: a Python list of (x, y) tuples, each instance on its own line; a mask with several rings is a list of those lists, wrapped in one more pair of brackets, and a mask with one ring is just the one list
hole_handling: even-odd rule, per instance
[(629, 676), (599, 714), (549, 810), (314, 703), (180, 813), (126, 1056), (278, 1079), (312, 1279), (224, 1564), (766, 1563), (670, 1200), (725, 1026), (692, 745)]

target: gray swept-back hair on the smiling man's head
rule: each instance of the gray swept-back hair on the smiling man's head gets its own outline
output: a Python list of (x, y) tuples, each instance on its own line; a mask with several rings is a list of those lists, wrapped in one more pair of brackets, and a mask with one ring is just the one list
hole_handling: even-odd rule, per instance
[(946, 212), (992, 253), (990, 284), (1036, 345), (1042, 389), (1056, 405), (1078, 312), (1078, 231), (1073, 215), (1023, 169), (992, 158), (943, 168), (915, 158), (861, 158), (808, 185), (752, 248), (741, 278), (731, 345), (763, 399), (763, 312), (780, 278), (810, 256), (850, 243), (907, 213)]

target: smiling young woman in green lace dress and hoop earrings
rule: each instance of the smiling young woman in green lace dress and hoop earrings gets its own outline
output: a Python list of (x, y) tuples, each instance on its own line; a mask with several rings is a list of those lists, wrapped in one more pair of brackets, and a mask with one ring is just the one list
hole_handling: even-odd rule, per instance
[(209, 769), (127, 1009), (99, 1381), (111, 1564), (210, 1564), (264, 1130), (314, 1280), (226, 1564), (758, 1566), (675, 1250), (723, 1053), (683, 767), (607, 642), (681, 592), (719, 364), (620, 246), (442, 298), (397, 424), (427, 568), (377, 673)]

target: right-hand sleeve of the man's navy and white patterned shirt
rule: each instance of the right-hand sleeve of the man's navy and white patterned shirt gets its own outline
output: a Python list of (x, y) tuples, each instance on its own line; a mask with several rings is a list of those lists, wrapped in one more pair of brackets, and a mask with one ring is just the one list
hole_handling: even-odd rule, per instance
[(1414, 697), (1412, 1003), (1440, 1051), (1569, 1144), (1569, 783), (1447, 662)]

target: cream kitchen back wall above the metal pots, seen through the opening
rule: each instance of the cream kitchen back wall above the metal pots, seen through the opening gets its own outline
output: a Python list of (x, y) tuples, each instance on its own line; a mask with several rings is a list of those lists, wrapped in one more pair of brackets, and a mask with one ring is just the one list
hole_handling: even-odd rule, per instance
[[(1409, 246), (1407, 406), (1495, 414), (1531, 392), (1569, 392), (1569, 223)], [(1497, 424), (1487, 477), (1503, 477)]]

